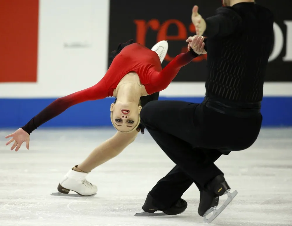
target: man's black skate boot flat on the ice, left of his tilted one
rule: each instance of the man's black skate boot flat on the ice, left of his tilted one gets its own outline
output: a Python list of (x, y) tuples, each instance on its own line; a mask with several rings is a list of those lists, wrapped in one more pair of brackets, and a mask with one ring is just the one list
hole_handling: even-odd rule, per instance
[(166, 207), (161, 205), (161, 203), (157, 202), (152, 198), (150, 194), (147, 195), (146, 201), (142, 206), (142, 209), (146, 213), (154, 213), (156, 211), (162, 211), (167, 215), (177, 215), (183, 213), (187, 208), (187, 202), (183, 199), (179, 199), (175, 203), (173, 203), (170, 207)]

